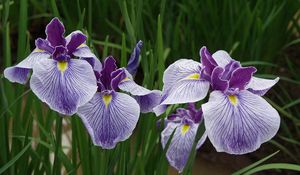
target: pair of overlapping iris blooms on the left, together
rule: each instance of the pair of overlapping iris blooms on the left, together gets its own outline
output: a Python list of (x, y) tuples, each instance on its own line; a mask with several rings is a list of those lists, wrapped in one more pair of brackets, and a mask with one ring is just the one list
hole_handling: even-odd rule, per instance
[[(72, 32), (66, 38), (63, 24), (54, 18), (46, 27), (46, 39), (22, 62), (4, 70), (11, 82), (25, 84), (30, 77), (34, 94), (63, 115), (77, 113), (95, 145), (112, 149), (126, 140), (140, 112), (152, 112), (161, 91), (148, 90), (133, 81), (143, 43), (134, 48), (126, 68), (118, 68), (112, 56), (102, 66), (86, 45), (86, 36)], [(130, 93), (118, 92), (119, 90)]]

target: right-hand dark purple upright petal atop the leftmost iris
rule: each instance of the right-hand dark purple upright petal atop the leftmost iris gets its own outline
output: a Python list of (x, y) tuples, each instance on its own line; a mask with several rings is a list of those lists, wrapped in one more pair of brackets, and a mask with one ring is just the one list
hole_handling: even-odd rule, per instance
[(72, 54), (80, 45), (86, 41), (86, 36), (81, 32), (73, 32), (70, 36), (70, 41), (67, 43), (68, 54)]

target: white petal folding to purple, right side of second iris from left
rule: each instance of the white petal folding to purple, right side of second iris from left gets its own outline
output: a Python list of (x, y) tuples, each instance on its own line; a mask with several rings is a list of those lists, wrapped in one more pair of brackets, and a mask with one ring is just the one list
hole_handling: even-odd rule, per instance
[[(128, 73), (127, 73), (128, 74)], [(141, 107), (141, 112), (152, 112), (153, 108), (161, 101), (161, 91), (149, 90), (136, 84), (131, 76), (119, 83), (119, 88), (133, 95)]]

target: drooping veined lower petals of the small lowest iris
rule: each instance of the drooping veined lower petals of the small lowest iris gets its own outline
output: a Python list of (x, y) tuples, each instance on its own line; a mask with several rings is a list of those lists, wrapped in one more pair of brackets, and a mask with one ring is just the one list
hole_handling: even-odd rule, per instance
[(184, 125), (180, 123), (169, 122), (167, 127), (161, 133), (161, 143), (165, 148), (170, 136), (174, 132), (171, 143), (167, 150), (167, 159), (171, 166), (176, 168), (179, 173), (184, 169), (184, 166), (189, 158), (193, 147), (195, 136), (197, 134), (199, 124)]

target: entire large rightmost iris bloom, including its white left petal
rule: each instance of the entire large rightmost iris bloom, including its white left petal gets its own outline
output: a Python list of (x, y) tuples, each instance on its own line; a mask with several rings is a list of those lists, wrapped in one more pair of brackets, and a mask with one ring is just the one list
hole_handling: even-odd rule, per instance
[(211, 55), (200, 50), (201, 63), (180, 59), (164, 73), (162, 100), (154, 108), (164, 112), (166, 105), (191, 103), (203, 99), (211, 86), (207, 103), (202, 105), (208, 137), (219, 152), (253, 152), (278, 131), (280, 116), (261, 96), (279, 78), (254, 77), (254, 67), (242, 67), (225, 51)]

